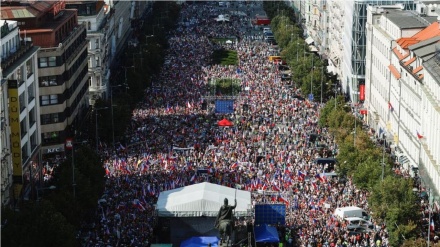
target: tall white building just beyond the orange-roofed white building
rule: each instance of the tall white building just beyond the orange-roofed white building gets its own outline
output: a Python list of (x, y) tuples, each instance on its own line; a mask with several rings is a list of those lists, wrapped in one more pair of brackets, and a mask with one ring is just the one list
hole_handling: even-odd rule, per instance
[(319, 54), (329, 58), (330, 72), (338, 75), (342, 91), (356, 103), (359, 101), (359, 85), (365, 83), (367, 6), (401, 3), (401, 8), (416, 8), (413, 0), (292, 1), (297, 12), (301, 13), (306, 36), (313, 39)]

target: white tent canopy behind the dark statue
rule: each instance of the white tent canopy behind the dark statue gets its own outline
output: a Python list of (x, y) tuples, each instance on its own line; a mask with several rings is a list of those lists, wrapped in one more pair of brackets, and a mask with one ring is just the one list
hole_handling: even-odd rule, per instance
[(251, 206), (251, 193), (211, 183), (199, 183), (168, 191), (162, 191), (157, 201), (159, 217), (216, 217), (223, 200), (234, 205), (235, 216), (246, 216)]

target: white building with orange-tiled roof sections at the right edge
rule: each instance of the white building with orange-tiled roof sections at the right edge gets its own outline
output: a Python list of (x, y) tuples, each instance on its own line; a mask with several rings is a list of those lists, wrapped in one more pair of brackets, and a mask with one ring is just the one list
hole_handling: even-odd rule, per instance
[[(421, 165), (440, 191), (440, 74), (436, 17), (368, 7), (365, 103), (368, 124), (397, 149), (411, 175)], [(431, 24), (432, 23), (432, 24)], [(423, 136), (423, 138), (422, 138)]]

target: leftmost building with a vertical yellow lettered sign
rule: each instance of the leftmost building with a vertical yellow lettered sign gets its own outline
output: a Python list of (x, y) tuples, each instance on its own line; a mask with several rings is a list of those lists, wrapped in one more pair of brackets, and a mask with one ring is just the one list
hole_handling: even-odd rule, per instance
[(17, 21), (1, 25), (1, 200), (29, 197), (41, 181), (38, 47), (20, 37)]

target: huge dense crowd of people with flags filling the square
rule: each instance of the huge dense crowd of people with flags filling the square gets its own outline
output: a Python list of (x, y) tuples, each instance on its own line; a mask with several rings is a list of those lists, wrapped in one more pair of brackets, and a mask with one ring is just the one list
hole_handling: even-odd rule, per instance
[[(352, 234), (332, 215), (349, 205), (368, 211), (368, 194), (350, 178), (323, 176), (334, 168), (314, 162), (337, 153), (317, 124), (321, 105), (295, 97), (300, 92), (268, 60), (270, 45), (248, 33), (248, 17), (218, 23), (214, 5), (182, 5), (182, 20), (192, 24), (182, 21), (170, 33), (167, 62), (133, 111), (129, 141), (100, 150), (107, 180), (85, 246), (149, 246), (159, 193), (204, 181), (249, 190), (253, 205), (285, 203), (291, 245), (388, 246), (384, 227)], [(231, 36), (239, 65), (212, 64), (213, 51), (226, 45), (212, 38)], [(208, 82), (220, 78), (241, 82), (234, 113), (215, 114), (203, 98)], [(223, 118), (234, 125), (219, 127)]]

